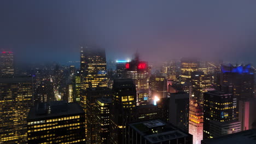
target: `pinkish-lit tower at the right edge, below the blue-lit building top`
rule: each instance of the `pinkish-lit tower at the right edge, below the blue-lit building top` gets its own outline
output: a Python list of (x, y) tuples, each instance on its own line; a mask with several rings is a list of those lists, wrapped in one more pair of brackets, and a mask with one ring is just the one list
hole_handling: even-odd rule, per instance
[(256, 98), (239, 100), (238, 104), (238, 120), (241, 122), (241, 130), (252, 129), (253, 124), (256, 123)]

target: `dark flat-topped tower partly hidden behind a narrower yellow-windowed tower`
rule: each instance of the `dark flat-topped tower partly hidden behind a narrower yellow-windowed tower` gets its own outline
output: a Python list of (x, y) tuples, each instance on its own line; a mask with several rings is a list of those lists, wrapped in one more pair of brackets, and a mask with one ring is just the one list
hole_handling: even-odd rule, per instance
[[(90, 87), (86, 89), (85, 97), (82, 97), (82, 101), (86, 101), (86, 143), (96, 143), (96, 100), (111, 96), (112, 90), (108, 87)], [(82, 106), (83, 108), (85, 107), (84, 105)]]

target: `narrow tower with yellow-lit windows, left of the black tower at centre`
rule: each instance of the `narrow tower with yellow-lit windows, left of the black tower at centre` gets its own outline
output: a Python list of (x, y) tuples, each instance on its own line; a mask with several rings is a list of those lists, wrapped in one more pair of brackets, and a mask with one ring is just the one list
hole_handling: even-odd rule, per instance
[(111, 97), (103, 97), (96, 101), (96, 143), (109, 143), (110, 134), (110, 106), (112, 105)]

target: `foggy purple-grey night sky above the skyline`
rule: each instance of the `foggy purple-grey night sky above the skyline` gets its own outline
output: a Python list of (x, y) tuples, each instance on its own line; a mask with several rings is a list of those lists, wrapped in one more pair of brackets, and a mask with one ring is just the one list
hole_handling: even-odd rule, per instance
[(79, 61), (97, 44), (108, 59), (197, 56), (256, 63), (256, 1), (0, 1), (0, 50), (17, 61)]

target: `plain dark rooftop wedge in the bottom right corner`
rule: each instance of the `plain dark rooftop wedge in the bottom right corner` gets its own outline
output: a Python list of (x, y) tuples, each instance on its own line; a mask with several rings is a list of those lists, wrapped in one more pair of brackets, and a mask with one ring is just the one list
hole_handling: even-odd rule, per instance
[(202, 140), (202, 144), (238, 144), (238, 143), (247, 143), (253, 144), (256, 143), (256, 129), (250, 129), (245, 131), (240, 131), (238, 133), (214, 137), (213, 139)]

